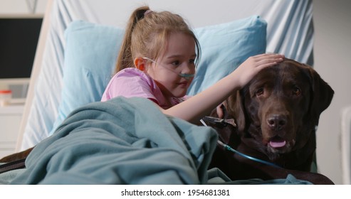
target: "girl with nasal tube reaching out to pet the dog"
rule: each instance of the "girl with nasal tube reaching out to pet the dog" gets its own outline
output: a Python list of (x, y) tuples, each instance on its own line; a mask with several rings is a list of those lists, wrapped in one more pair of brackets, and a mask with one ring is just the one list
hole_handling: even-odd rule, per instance
[(278, 54), (253, 56), (207, 90), (187, 97), (199, 57), (199, 41), (181, 16), (140, 7), (130, 17), (117, 58), (117, 73), (102, 101), (118, 96), (145, 97), (164, 114), (197, 124), (259, 70), (283, 60)]

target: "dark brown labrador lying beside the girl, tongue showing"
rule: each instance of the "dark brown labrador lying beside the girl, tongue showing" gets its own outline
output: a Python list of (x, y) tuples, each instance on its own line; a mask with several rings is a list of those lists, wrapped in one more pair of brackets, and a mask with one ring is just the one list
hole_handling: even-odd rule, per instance
[[(291, 173), (315, 184), (332, 184), (310, 169), (319, 117), (333, 95), (313, 68), (294, 60), (262, 70), (226, 100), (225, 118), (234, 118), (236, 127), (224, 120), (204, 120), (219, 132), (224, 144), (263, 163), (219, 146), (211, 167), (220, 168), (232, 180), (285, 178)], [(216, 112), (211, 115), (216, 117)]]

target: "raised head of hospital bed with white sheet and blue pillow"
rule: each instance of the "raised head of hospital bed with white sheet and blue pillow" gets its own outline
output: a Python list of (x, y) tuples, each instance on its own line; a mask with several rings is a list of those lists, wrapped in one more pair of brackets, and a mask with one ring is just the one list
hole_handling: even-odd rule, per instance
[(127, 19), (143, 5), (180, 14), (197, 34), (202, 57), (189, 95), (259, 53), (313, 65), (311, 0), (49, 0), (16, 151), (46, 140), (73, 110), (100, 101)]

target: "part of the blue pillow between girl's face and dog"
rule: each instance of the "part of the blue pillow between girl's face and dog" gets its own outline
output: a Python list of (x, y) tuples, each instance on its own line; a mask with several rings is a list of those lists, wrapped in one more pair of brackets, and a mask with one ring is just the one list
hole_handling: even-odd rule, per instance
[(248, 57), (266, 52), (266, 21), (251, 16), (195, 29), (201, 59), (188, 95), (195, 95), (229, 75)]

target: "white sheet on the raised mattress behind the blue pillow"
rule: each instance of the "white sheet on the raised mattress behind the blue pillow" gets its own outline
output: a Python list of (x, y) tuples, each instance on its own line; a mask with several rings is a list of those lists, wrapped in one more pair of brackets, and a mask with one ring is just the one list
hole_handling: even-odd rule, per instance
[[(217, 0), (214, 1), (115, 1), (115, 0), (52, 0), (46, 12), (48, 34), (39, 45), (38, 62), (33, 67), (21, 123), (17, 151), (28, 149), (48, 136), (58, 115), (61, 99), (63, 32), (71, 21), (83, 19), (94, 23), (124, 28), (131, 12), (141, 5), (168, 10), (182, 15), (194, 28), (224, 23), (252, 15), (267, 21), (267, 52), (283, 53), (285, 57), (313, 65), (312, 1), (300, 0)], [(45, 26), (45, 24), (43, 25)], [(28, 117), (27, 117), (28, 116)]]

